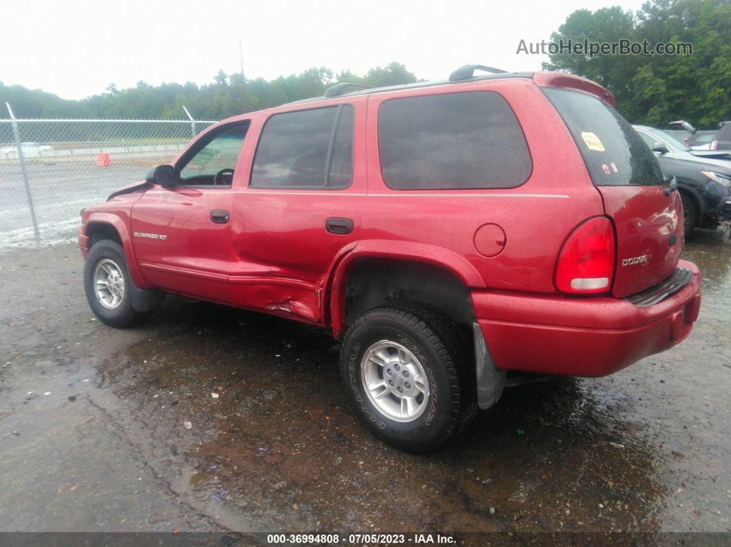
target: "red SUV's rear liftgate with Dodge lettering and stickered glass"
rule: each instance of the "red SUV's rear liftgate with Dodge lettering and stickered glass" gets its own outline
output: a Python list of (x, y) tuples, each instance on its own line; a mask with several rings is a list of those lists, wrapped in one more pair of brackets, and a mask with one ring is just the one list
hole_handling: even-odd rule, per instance
[(683, 242), (680, 195), (657, 158), (609, 104), (582, 91), (542, 88), (574, 137), (617, 232), (612, 293), (626, 297), (670, 276)]

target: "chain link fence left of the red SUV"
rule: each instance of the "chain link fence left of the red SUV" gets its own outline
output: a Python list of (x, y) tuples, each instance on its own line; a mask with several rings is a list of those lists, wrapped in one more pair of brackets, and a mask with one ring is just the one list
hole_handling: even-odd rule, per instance
[(75, 237), (82, 207), (169, 164), (212, 123), (0, 119), (0, 249)]

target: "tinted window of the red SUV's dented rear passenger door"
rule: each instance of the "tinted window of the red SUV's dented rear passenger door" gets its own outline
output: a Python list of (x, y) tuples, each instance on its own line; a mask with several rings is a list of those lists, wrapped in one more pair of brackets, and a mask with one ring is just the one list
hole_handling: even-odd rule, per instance
[(345, 188), (353, 172), (353, 107), (298, 110), (268, 119), (251, 186)]

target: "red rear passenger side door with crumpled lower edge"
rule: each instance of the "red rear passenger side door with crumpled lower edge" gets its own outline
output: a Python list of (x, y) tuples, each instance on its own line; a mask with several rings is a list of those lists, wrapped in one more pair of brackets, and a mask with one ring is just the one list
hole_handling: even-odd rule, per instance
[(248, 180), (242, 178), (232, 211), (241, 224), (232, 240), (239, 260), (229, 278), (234, 305), (324, 321), (327, 271), (360, 231), (366, 101), (278, 110), (252, 132), (243, 161)]

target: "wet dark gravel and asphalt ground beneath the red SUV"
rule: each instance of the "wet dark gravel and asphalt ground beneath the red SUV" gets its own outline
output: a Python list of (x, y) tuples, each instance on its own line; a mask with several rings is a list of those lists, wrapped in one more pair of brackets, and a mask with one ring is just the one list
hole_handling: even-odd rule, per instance
[(508, 389), (458, 443), (413, 456), (357, 423), (321, 329), (167, 297), (115, 330), (88, 309), (74, 245), (3, 253), (0, 531), (728, 540), (728, 232), (698, 232), (685, 256), (704, 301), (681, 345), (607, 378)]

